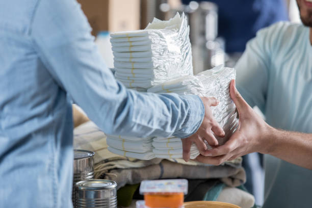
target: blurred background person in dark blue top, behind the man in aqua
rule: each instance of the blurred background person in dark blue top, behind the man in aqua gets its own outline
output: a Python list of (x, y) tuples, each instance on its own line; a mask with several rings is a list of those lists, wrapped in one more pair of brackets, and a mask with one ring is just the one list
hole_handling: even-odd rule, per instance
[[(190, 0), (182, 0), (188, 5)], [(201, 0), (196, 2), (202, 2)], [(287, 21), (285, 0), (209, 0), (218, 6), (218, 36), (225, 40), (225, 52), (229, 66), (241, 57), (246, 43), (255, 37), (258, 30), (278, 21)], [(257, 154), (257, 155), (256, 155)], [(256, 202), (263, 202), (263, 155), (256, 153), (243, 157), (246, 170), (246, 189), (255, 195)], [(258, 156), (258, 157), (256, 157)]]

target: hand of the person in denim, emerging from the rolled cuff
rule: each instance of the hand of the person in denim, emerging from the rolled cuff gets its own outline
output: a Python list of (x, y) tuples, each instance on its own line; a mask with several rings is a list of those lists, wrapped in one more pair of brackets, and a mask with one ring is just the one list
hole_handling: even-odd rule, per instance
[(183, 159), (187, 162), (190, 159), (190, 148), (192, 143), (194, 142), (201, 154), (204, 154), (207, 150), (207, 146), (204, 140), (210, 146), (218, 145), (218, 141), (215, 135), (219, 137), (224, 137), (225, 133), (223, 129), (220, 127), (219, 123), (215, 120), (212, 111), (210, 109), (211, 106), (217, 106), (219, 101), (214, 97), (200, 97), (203, 105), (205, 107), (205, 115), (204, 119), (199, 126), (197, 132), (192, 136), (182, 139), (183, 145)]

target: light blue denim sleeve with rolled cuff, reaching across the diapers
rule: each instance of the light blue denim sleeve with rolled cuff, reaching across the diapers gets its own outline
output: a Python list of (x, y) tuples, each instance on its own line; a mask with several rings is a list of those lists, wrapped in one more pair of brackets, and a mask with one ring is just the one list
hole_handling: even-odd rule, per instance
[(40, 60), (103, 132), (185, 138), (204, 116), (195, 95), (139, 93), (115, 80), (74, 0), (39, 1), (30, 36)]

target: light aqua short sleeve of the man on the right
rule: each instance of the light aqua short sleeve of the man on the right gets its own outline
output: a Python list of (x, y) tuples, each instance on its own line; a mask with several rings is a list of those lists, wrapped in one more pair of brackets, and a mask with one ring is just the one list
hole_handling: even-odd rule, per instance
[(235, 68), (236, 85), (251, 107), (265, 111), (269, 69), (271, 65), (271, 37), (269, 28), (259, 31), (248, 41), (246, 50)]

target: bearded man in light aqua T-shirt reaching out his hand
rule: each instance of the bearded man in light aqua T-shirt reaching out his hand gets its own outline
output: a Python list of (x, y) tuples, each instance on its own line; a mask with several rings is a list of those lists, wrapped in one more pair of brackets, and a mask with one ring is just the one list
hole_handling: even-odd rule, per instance
[[(236, 66), (238, 89), (247, 102), (233, 82), (230, 86), (240, 128), (225, 145), (205, 154), (210, 157), (198, 158), (220, 164), (261, 152), (282, 159), (266, 155), (276, 165), (275, 180), (266, 178), (271, 190), (265, 207), (312, 204), (312, 1), (297, 3), (303, 25), (276, 23), (247, 43)], [(259, 107), (267, 123), (247, 103)]]

